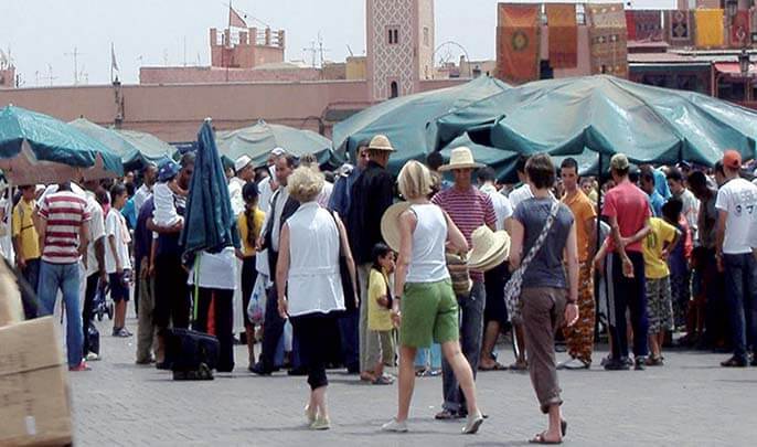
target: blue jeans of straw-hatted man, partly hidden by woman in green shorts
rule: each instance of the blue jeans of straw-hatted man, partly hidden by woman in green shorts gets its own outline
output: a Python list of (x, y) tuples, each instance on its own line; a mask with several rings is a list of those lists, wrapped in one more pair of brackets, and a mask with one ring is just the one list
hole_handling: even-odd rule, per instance
[[(479, 359), (481, 358), (483, 309), (487, 304), (483, 281), (473, 281), (470, 296), (458, 297), (458, 304), (460, 306), (460, 347), (462, 354), (468, 359), (468, 363), (470, 363), (470, 368), (473, 370), (473, 377), (476, 377)], [(445, 397), (444, 409), (450, 412), (466, 411), (466, 397), (462, 395), (462, 390), (460, 390), (460, 385), (455, 377), (452, 366), (444, 358), (441, 359), (441, 389)]]

